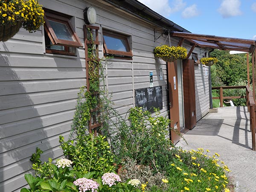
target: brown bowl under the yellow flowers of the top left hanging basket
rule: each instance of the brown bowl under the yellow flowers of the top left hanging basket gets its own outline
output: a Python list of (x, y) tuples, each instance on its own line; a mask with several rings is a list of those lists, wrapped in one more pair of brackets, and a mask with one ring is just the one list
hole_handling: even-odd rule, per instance
[(7, 41), (9, 38), (12, 38), (20, 30), (21, 26), (21, 22), (17, 22), (16, 25), (0, 25), (0, 41)]

